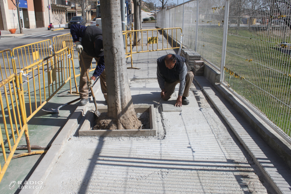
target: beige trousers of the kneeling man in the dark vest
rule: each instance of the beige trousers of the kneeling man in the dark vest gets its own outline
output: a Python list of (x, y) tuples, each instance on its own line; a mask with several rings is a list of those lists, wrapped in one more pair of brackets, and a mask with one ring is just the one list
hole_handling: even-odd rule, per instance
[[(185, 90), (183, 93), (184, 97), (188, 97), (189, 96), (189, 90), (190, 90), (190, 86), (191, 83), (193, 81), (194, 75), (192, 72), (187, 72), (186, 74), (186, 83), (185, 83)], [(172, 97), (172, 94), (175, 92), (175, 87), (176, 85), (180, 83), (180, 80), (174, 81), (173, 83), (168, 83), (165, 81), (165, 90), (167, 92), (166, 96), (163, 97), (163, 100), (168, 100)]]

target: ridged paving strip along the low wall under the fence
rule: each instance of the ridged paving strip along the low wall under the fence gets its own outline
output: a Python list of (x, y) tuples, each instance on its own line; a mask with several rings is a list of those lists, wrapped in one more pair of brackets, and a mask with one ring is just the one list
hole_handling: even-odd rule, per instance
[(211, 85), (204, 76), (194, 79), (226, 120), (237, 138), (261, 168), (277, 193), (291, 193), (291, 171), (280, 157), (265, 143), (251, 126), (237, 113), (226, 99)]

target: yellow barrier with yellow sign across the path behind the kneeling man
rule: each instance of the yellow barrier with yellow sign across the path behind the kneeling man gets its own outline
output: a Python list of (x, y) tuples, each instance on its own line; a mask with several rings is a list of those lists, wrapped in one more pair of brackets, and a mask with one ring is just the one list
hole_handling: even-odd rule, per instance
[[(159, 32), (161, 31), (161, 33)], [(164, 41), (164, 31), (166, 33), (166, 41)], [(132, 38), (137, 36), (137, 33), (141, 33), (141, 39), (138, 41), (136, 38), (134, 41), (132, 41)], [(168, 50), (168, 49), (178, 49), (178, 43), (177, 43), (177, 36), (178, 32), (182, 34), (181, 28), (164, 28), (164, 29), (145, 29), (145, 30), (129, 30), (129, 31), (123, 31), (123, 34), (128, 34), (127, 36), (127, 47), (129, 46), (130, 51), (128, 51), (128, 48), (126, 47), (126, 55), (130, 55), (131, 57), (131, 67), (127, 67), (127, 69), (139, 69), (136, 67), (133, 67), (132, 65), (132, 54), (135, 53), (144, 53), (144, 52), (151, 52), (151, 51), (162, 51), (162, 50)], [(146, 33), (143, 35), (143, 33)], [(173, 35), (176, 35), (176, 44), (173, 43)], [(169, 35), (170, 35), (170, 41), (169, 42)], [(128, 40), (129, 38), (129, 40)], [(133, 45), (132, 45), (133, 43)], [(132, 46), (136, 47), (136, 51), (133, 51)], [(134, 49), (135, 50), (135, 49)]]

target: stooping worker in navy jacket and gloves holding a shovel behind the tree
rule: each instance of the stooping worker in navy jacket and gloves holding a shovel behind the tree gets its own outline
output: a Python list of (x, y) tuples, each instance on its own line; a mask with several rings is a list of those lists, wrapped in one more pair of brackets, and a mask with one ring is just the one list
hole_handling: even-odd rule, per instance
[[(101, 91), (104, 95), (105, 102), (107, 103), (107, 87), (106, 87), (106, 73), (104, 64), (104, 51), (103, 51), (103, 39), (102, 30), (95, 26), (81, 26), (77, 24), (71, 25), (71, 35), (76, 44), (76, 50), (79, 52), (81, 49), (85, 69), (89, 72), (93, 58), (96, 60), (97, 67), (90, 80), (87, 80), (86, 73), (84, 71), (83, 62), (80, 56), (80, 81), (79, 81), (79, 93), (81, 97), (80, 104), (84, 106), (87, 104), (88, 94), (95, 79), (99, 76)], [(81, 42), (79, 38), (82, 38)]]

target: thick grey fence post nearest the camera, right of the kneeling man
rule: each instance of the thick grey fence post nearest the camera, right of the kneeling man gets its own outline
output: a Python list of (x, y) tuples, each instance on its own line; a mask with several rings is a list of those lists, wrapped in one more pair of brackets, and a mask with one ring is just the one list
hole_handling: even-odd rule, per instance
[(223, 24), (223, 39), (222, 39), (222, 51), (221, 51), (221, 65), (220, 65), (220, 82), (223, 82), (224, 64), (226, 58), (226, 44), (227, 44), (227, 30), (228, 30), (228, 13), (229, 13), (229, 1), (225, 1), (224, 5), (224, 24)]

